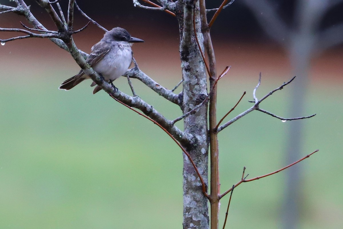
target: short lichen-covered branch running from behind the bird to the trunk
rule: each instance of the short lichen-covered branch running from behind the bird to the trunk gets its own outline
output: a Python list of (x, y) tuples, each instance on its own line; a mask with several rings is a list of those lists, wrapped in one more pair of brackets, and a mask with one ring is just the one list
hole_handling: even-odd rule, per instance
[(144, 72), (142, 72), (139, 68), (131, 68), (123, 76), (129, 76), (130, 78), (139, 79), (140, 81), (142, 81), (142, 83), (155, 91), (158, 95), (161, 95), (163, 98), (169, 100), (170, 102), (179, 105), (179, 96), (177, 94), (162, 87), (160, 84), (158, 84)]

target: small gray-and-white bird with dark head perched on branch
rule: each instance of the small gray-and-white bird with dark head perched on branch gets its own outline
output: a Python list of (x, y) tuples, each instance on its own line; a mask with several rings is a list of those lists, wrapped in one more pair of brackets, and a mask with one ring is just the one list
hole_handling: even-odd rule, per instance
[[(127, 30), (115, 27), (104, 34), (104, 37), (91, 48), (91, 54), (86, 62), (107, 82), (111, 83), (121, 77), (130, 67), (132, 62), (133, 43), (144, 42), (142, 39), (132, 37)], [(80, 72), (63, 81), (59, 89), (70, 90), (89, 76), (81, 69)], [(95, 86), (93, 82), (91, 87)], [(113, 84), (112, 84), (113, 85)], [(93, 94), (100, 91), (97, 85)]]

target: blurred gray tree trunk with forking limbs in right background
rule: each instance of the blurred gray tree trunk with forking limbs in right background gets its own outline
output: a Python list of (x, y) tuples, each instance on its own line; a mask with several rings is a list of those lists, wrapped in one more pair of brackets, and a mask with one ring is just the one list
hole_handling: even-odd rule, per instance
[[(288, 52), (293, 75), (297, 78), (292, 84), (288, 116), (301, 116), (306, 111), (306, 91), (311, 58), (321, 51), (343, 42), (343, 24), (319, 30), (324, 14), (342, 0), (298, 0), (294, 13), (294, 24), (287, 26), (277, 15), (277, 2), (268, 0), (244, 0), (255, 14), (264, 31), (281, 44)], [(302, 153), (305, 121), (290, 122), (287, 131), (286, 164), (298, 160)], [(282, 206), (282, 227), (299, 227), (301, 205), (301, 167), (298, 165), (286, 171), (286, 189)]]

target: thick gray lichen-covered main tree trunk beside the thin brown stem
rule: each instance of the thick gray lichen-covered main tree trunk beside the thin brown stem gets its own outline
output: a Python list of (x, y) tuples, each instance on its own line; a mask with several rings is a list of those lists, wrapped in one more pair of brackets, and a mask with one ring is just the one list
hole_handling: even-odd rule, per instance
[[(176, 14), (180, 25), (180, 58), (183, 78), (182, 110), (188, 112), (200, 104), (207, 96), (206, 71), (193, 31), (193, 1), (178, 1)], [(183, 14), (182, 14), (183, 12)], [(196, 5), (196, 33), (202, 46), (199, 5)], [(195, 139), (186, 146), (197, 165), (205, 183), (208, 183), (208, 126), (207, 105), (202, 106), (184, 119), (185, 133)], [(184, 156), (184, 221), (187, 229), (208, 229), (208, 200), (203, 195), (201, 183), (192, 164)]]

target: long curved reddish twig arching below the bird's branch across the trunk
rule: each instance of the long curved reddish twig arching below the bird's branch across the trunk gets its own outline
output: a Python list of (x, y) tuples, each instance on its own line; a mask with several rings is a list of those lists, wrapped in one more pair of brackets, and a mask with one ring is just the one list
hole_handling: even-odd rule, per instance
[(197, 173), (198, 176), (199, 176), (199, 179), (200, 179), (200, 182), (201, 182), (201, 187), (202, 187), (202, 192), (203, 192), (203, 194), (204, 194), (207, 198), (209, 198), (209, 194), (208, 194), (207, 191), (206, 191), (206, 189), (207, 189), (207, 188), (206, 188), (206, 184), (205, 184), (204, 179), (202, 178), (202, 176), (201, 176), (201, 174), (200, 174), (200, 172), (199, 172), (199, 170), (198, 170), (198, 168), (197, 168), (197, 165), (194, 163), (193, 159), (191, 158), (190, 154), (186, 151), (186, 149), (185, 149), (184, 147), (181, 146), (180, 142), (178, 142), (178, 141), (176, 140), (176, 138), (168, 132), (168, 130), (166, 130), (163, 126), (161, 126), (159, 123), (157, 123), (154, 119), (152, 119), (152, 118), (150, 118), (150, 117), (148, 117), (148, 116), (142, 114), (142, 113), (139, 112), (139, 111), (134, 110), (134, 109), (133, 109), (132, 107), (130, 107), (129, 105), (127, 105), (127, 104), (125, 104), (125, 103), (119, 101), (119, 100), (118, 100), (117, 98), (115, 98), (113, 95), (109, 94), (109, 96), (111, 96), (111, 98), (113, 98), (113, 99), (116, 100), (117, 102), (121, 103), (122, 105), (126, 106), (126, 107), (129, 108), (130, 110), (132, 110), (132, 111), (136, 112), (137, 114), (139, 114), (139, 115), (141, 115), (141, 116), (143, 116), (143, 117), (149, 119), (151, 122), (153, 122), (154, 124), (156, 124), (159, 128), (161, 128), (164, 132), (166, 132), (166, 133), (169, 135), (169, 137), (171, 137), (171, 139), (173, 139), (173, 140), (175, 141), (175, 143), (180, 147), (180, 149), (182, 150), (182, 152), (184, 152), (184, 153), (186, 154), (186, 156), (188, 157), (188, 159), (189, 159), (190, 162), (192, 163), (192, 165), (193, 165), (193, 167), (194, 167), (194, 170), (196, 171), (196, 173)]

